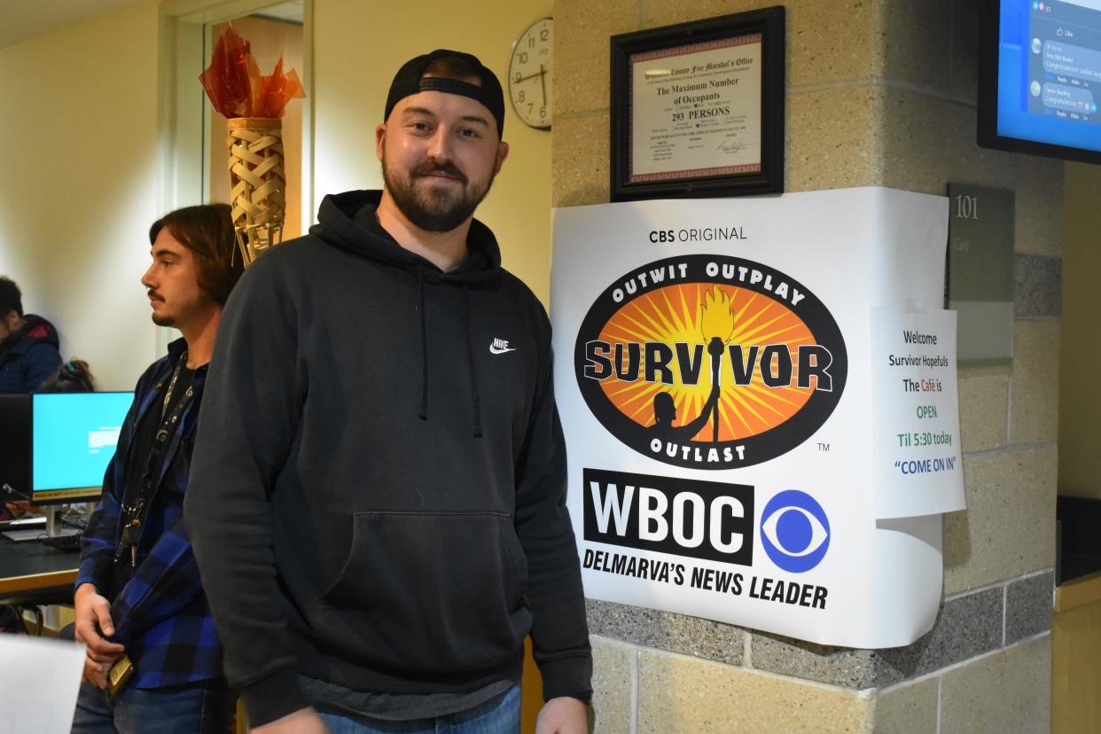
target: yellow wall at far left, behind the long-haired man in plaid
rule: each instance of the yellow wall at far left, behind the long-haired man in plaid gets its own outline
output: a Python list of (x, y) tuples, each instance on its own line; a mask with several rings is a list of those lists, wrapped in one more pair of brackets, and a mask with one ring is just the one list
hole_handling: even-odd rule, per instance
[(156, 48), (153, 0), (0, 48), (0, 274), (108, 390), (155, 351), (139, 280), (160, 213)]

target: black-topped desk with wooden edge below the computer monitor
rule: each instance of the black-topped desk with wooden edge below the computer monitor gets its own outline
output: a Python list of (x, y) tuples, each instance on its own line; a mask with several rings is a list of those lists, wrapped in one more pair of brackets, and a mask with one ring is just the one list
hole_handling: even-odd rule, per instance
[(0, 603), (72, 604), (80, 554), (0, 539)]

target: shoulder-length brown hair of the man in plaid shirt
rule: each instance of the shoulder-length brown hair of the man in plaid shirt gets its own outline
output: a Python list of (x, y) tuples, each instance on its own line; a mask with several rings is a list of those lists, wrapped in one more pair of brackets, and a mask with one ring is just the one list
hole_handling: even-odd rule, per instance
[(228, 204), (184, 207), (166, 213), (149, 229), (150, 244), (167, 227), (172, 237), (194, 253), (199, 287), (222, 306), (244, 272), (230, 212)]

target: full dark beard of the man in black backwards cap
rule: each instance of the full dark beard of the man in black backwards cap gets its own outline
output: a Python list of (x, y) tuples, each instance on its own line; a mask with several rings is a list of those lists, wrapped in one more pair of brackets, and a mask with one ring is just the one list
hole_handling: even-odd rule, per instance
[[(460, 190), (453, 193), (435, 187), (417, 189), (417, 178), (434, 172), (455, 178), (461, 185)], [(475, 209), (493, 185), (493, 176), (490, 176), (486, 188), (479, 191), (470, 186), (470, 180), (454, 163), (437, 163), (432, 158), (407, 174), (390, 171), (386, 165), (385, 149), (383, 149), (382, 180), (405, 218), (426, 232), (450, 232), (465, 222), (473, 216)]]

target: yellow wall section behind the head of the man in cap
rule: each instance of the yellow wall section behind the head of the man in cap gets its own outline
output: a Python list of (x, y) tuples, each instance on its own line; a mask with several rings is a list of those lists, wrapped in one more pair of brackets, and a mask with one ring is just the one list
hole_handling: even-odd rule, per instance
[[(386, 91), (401, 64), (434, 48), (456, 48), (478, 56), (503, 83), (512, 42), (531, 21), (550, 15), (550, 0), (428, 6), (315, 0), (317, 201), (328, 193), (382, 186), (374, 128), (382, 121)], [(546, 304), (550, 288), (550, 133), (524, 125), (505, 101), (504, 140), (512, 152), (476, 216), (497, 234), (504, 266)]]

